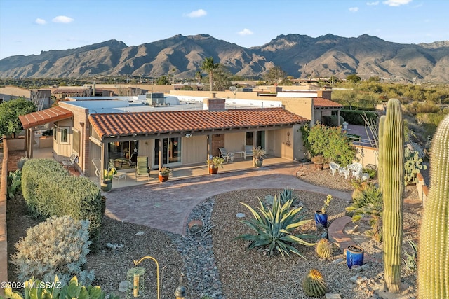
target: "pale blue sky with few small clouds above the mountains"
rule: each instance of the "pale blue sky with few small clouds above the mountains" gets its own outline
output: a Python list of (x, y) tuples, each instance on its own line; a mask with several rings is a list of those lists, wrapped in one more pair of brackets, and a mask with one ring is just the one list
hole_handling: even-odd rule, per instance
[(138, 46), (210, 34), (243, 47), (280, 34), (449, 40), (446, 0), (0, 0), (0, 59), (109, 39)]

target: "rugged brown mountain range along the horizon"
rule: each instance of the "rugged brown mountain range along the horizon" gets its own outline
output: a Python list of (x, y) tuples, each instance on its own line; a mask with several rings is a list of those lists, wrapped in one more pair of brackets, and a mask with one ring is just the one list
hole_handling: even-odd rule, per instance
[(361, 78), (378, 76), (388, 81), (449, 82), (449, 41), (403, 44), (376, 36), (345, 38), (326, 34), (279, 35), (263, 46), (244, 48), (208, 34), (180, 34), (127, 46), (110, 40), (68, 50), (42, 51), (39, 55), (15, 55), (0, 60), (0, 78), (79, 76), (150, 76), (170, 74), (193, 78), (201, 62), (213, 57), (232, 74), (261, 76), (278, 66), (294, 78)]

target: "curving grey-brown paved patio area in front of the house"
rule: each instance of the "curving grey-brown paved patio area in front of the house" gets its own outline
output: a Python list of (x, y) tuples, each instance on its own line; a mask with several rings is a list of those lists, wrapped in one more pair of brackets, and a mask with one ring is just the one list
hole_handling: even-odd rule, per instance
[(120, 221), (185, 235), (190, 212), (213, 195), (230, 190), (293, 188), (351, 200), (349, 193), (297, 179), (297, 162), (240, 172), (205, 175), (166, 183), (116, 188), (107, 197), (106, 214)]

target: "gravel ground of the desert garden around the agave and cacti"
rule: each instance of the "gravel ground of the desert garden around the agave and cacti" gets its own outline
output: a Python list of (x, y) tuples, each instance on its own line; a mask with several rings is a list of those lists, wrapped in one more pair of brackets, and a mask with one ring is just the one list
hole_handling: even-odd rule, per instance
[[(349, 181), (340, 176), (332, 176), (328, 170), (316, 171), (304, 166), (298, 172), (298, 178), (310, 181), (319, 186), (327, 186), (338, 190), (351, 192)], [(284, 186), (279, 186), (279, 190)], [(279, 190), (234, 190), (229, 193), (217, 195), (192, 211), (190, 219), (203, 221), (206, 228), (203, 232), (187, 233), (180, 236), (161, 232), (152, 228), (122, 223), (105, 217), (103, 221), (100, 250), (88, 256), (86, 267), (95, 270), (96, 280), (94, 284), (102, 286), (102, 289), (121, 295), (118, 292), (121, 281), (126, 280), (126, 272), (133, 267), (133, 260), (143, 256), (154, 256), (159, 265), (168, 265), (162, 277), (161, 298), (173, 298), (173, 292), (179, 285), (180, 272), (185, 276), (182, 284), (187, 287), (187, 298), (201, 298), (210, 295), (212, 298), (238, 299), (238, 298), (307, 298), (302, 293), (301, 281), (305, 274), (316, 268), (323, 273), (330, 293), (339, 293), (342, 298), (387, 298), (383, 297), (383, 265), (381, 263), (368, 263), (368, 269), (358, 272), (349, 270), (344, 258), (338, 249), (330, 260), (321, 260), (316, 257), (314, 247), (298, 246), (307, 260), (299, 256), (268, 257), (263, 250), (247, 251), (248, 243), (242, 240), (234, 240), (234, 237), (249, 229), (243, 223), (236, 221), (237, 213), (246, 214), (250, 218), (250, 212), (240, 202), (257, 207), (257, 197), (263, 199), (266, 195), (274, 195)], [(417, 226), (420, 223), (421, 205), (415, 204), (417, 193), (415, 187), (406, 190), (408, 202), (405, 204), (404, 228), (405, 238), (417, 236)], [(303, 211), (313, 218), (312, 212), (321, 207), (323, 195), (295, 190), (304, 204)], [(344, 215), (344, 207), (347, 202), (335, 199), (330, 203), (328, 214), (329, 221)], [(34, 221), (26, 214), (21, 197), (8, 200), (8, 252), (12, 253), (13, 244), (20, 237), (25, 236), (28, 227), (35, 225)], [(26, 225), (24, 225), (26, 223)], [(348, 225), (347, 231), (367, 253), (382, 255), (382, 244), (376, 243), (366, 237), (363, 232), (368, 228), (366, 223), (358, 226), (354, 232), (354, 226)], [(143, 235), (135, 235), (143, 232)], [(319, 230), (313, 221), (307, 223), (300, 232), (314, 235), (319, 239), (325, 230)], [(123, 248), (109, 249), (108, 243), (123, 244)], [(404, 248), (408, 248), (405, 246)], [(182, 269), (178, 269), (178, 265)], [(147, 293), (143, 298), (156, 298), (155, 295), (155, 267), (152, 261), (142, 262), (147, 268)], [(13, 265), (8, 267), (9, 280), (15, 279)], [(367, 277), (362, 284), (354, 284), (349, 279), (354, 276)], [(415, 298), (415, 275), (403, 269), (402, 280), (406, 291), (401, 297)], [(149, 295), (149, 294), (152, 295)]]

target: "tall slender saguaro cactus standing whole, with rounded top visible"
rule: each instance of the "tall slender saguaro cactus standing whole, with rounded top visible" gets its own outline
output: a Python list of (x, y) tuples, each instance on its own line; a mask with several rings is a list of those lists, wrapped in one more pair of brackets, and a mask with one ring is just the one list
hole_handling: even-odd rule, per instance
[(404, 192), (404, 123), (401, 102), (389, 99), (387, 116), (380, 122), (380, 169), (384, 211), (382, 231), (384, 237), (384, 277), (391, 293), (401, 291), (401, 252), (403, 234)]

